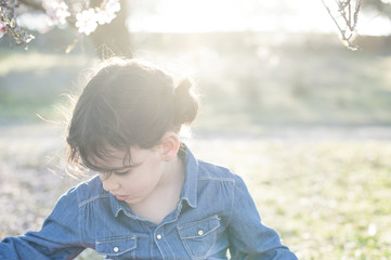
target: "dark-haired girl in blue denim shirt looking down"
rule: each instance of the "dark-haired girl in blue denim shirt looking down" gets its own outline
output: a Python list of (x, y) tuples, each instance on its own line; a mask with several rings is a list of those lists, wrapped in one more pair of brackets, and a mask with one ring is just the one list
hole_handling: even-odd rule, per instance
[[(297, 259), (261, 223), (243, 180), (179, 140), (196, 117), (190, 80), (112, 60), (83, 89), (68, 128), (71, 165), (99, 177), (63, 195), (41, 231), (6, 237), (0, 259)], [(227, 253), (230, 251), (230, 253)]]

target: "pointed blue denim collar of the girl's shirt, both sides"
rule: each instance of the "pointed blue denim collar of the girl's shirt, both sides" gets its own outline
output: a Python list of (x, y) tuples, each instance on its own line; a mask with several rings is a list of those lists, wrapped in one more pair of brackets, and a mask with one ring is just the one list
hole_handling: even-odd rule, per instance
[[(187, 148), (186, 145), (183, 145), (185, 153), (185, 165), (186, 165), (186, 178), (184, 180), (181, 200), (186, 200), (187, 205), (192, 208), (197, 207), (197, 183), (198, 183), (198, 162), (192, 152)], [(122, 205), (122, 202), (119, 202), (115, 196), (108, 193), (113, 214), (118, 217), (121, 210), (126, 210), (126, 206)], [(125, 204), (125, 203), (123, 203)], [(128, 206), (129, 207), (129, 206)]]

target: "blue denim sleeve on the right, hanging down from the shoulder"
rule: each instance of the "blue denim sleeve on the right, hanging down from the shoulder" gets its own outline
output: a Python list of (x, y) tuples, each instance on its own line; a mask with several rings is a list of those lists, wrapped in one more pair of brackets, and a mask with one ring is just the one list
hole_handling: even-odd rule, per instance
[(297, 260), (278, 234), (261, 223), (256, 205), (244, 181), (236, 177), (229, 222), (232, 259)]

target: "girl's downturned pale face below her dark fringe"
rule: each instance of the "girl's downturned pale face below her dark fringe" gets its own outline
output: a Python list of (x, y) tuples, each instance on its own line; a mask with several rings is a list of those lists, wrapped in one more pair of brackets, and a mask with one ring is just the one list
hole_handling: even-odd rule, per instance
[(96, 166), (115, 169), (101, 172), (103, 188), (110, 192), (119, 200), (129, 205), (138, 204), (146, 199), (161, 184), (165, 174), (165, 160), (161, 158), (159, 148), (130, 150), (131, 161), (129, 166), (123, 165), (125, 151), (113, 151), (113, 156), (102, 160), (95, 159)]

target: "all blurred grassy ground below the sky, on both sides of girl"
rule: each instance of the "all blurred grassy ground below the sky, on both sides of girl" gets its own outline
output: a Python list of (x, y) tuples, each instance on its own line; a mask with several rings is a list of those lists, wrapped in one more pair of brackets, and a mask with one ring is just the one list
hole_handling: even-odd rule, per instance
[[(191, 148), (245, 179), (264, 223), (300, 259), (391, 259), (389, 53), (350, 52), (335, 36), (132, 37), (135, 56), (196, 78), (204, 98)], [(62, 118), (60, 96), (77, 92), (95, 61), (32, 46), (0, 56), (4, 125)], [(63, 173), (62, 129), (0, 127), (1, 238), (39, 230), (77, 183)]]

